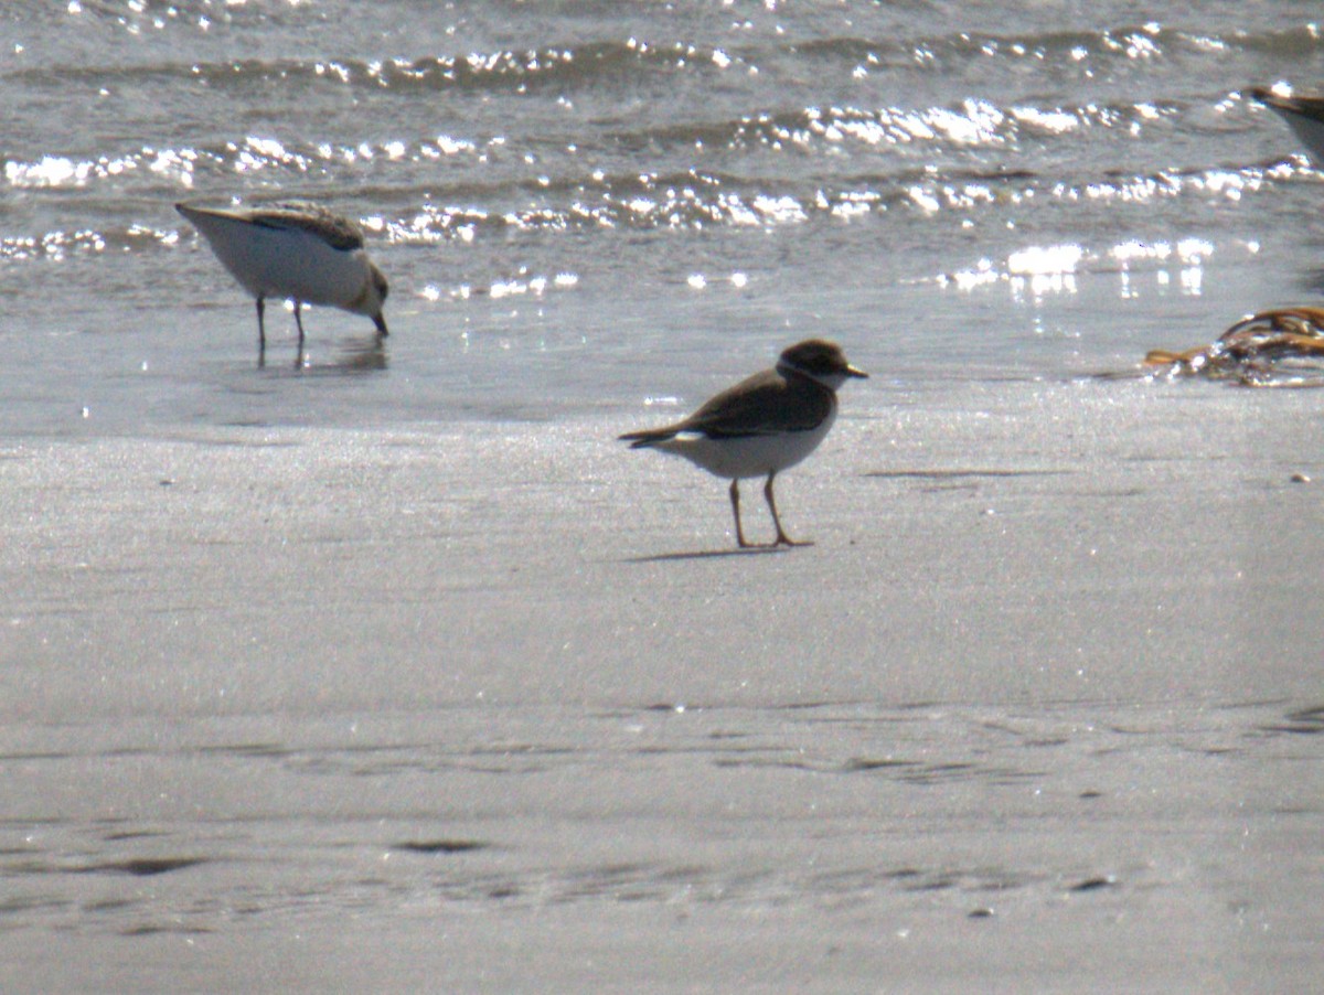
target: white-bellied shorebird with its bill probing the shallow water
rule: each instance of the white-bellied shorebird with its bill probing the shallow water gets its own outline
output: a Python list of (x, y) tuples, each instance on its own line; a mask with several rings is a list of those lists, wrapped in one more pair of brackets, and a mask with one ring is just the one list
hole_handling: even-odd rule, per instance
[(257, 298), (257, 333), (266, 349), (266, 298), (294, 300), (294, 323), (303, 351), (303, 304), (332, 304), (367, 315), (387, 333), (381, 306), (387, 278), (368, 258), (363, 229), (318, 204), (290, 201), (220, 210), (176, 204), (207, 238), (225, 269)]

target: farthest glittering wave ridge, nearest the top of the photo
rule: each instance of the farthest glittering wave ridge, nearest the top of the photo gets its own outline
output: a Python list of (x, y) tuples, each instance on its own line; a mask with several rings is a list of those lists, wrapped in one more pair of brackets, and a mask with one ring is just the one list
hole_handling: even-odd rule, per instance
[[(712, 45), (686, 40), (647, 41), (636, 37), (549, 44), (530, 49), (498, 49), (422, 58), (282, 58), (233, 61), (166, 61), (140, 65), (58, 65), (21, 69), (4, 75), (49, 89), (70, 83), (203, 82), (211, 86), (307, 82), (336, 86), (417, 91), (580, 90), (632, 85), (677, 74), (756, 77), (761, 70), (802, 73), (805, 66), (855, 74), (900, 70), (965, 77), (977, 64), (1033, 64), (1051, 75), (1070, 70), (1092, 75), (1111, 64), (1161, 62), (1210, 53), (1276, 54), (1307, 60), (1324, 53), (1324, 30), (1313, 22), (1272, 30), (1200, 33), (1161, 24), (1102, 30), (994, 34), (953, 32), (936, 36), (870, 38), (829, 37), (775, 45)], [(830, 64), (822, 66), (821, 64)], [(794, 67), (794, 69), (790, 69)]]

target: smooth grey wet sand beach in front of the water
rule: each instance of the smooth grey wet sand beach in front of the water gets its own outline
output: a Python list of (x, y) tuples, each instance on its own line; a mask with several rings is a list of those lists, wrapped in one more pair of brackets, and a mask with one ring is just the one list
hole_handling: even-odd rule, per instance
[(0, 986), (1317, 976), (1317, 394), (843, 401), (5, 443)]

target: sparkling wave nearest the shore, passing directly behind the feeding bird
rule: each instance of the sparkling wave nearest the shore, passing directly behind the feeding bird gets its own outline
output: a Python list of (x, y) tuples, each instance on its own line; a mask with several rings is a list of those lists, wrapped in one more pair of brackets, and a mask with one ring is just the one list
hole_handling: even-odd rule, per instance
[[(838, 177), (830, 184), (806, 184), (793, 177), (745, 177), (699, 169), (675, 173), (620, 173), (564, 179), (548, 185), (524, 180), (493, 181), (486, 187), (420, 184), (365, 188), (320, 187), (310, 192), (290, 184), (271, 196), (319, 196), (342, 209), (373, 212), (363, 221), (369, 238), (395, 245), (469, 241), (475, 234), (564, 232), (593, 229), (760, 229), (814, 221), (858, 222), (890, 217), (911, 224), (993, 220), (1034, 205), (1039, 216), (1054, 205), (1079, 212), (1084, 206), (1148, 210), (1184, 197), (1239, 200), (1295, 179), (1317, 181), (1304, 164), (1168, 169), (1155, 173), (1096, 173), (1074, 177), (1033, 171), (952, 169), (933, 173), (923, 167)], [(151, 201), (148, 201), (150, 204)], [(90, 218), (78, 229), (0, 238), (0, 261), (61, 261), (113, 251), (159, 251), (187, 238), (187, 226), (163, 196), (155, 208), (136, 204), (151, 222), (111, 221), (124, 213), (113, 193), (83, 204)], [(11, 229), (13, 222), (11, 220)]]

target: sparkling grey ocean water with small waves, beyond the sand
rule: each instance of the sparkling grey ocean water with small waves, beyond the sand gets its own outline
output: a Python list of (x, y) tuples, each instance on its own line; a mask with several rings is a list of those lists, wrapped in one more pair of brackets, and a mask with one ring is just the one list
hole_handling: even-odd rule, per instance
[[(1254, 83), (1313, 3), (81, 3), (0, 15), (11, 434), (686, 406), (809, 335), (884, 374), (1135, 368), (1319, 290)], [(270, 319), (172, 210), (364, 224), (393, 335)], [(870, 404), (869, 400), (861, 404)]]

